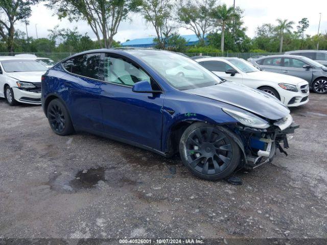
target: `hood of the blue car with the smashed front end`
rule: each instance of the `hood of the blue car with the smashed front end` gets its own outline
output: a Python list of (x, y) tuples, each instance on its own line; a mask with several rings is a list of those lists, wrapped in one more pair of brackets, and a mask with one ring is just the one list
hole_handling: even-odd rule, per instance
[(184, 90), (184, 92), (237, 106), (271, 120), (278, 120), (290, 114), (290, 110), (271, 95), (228, 81), (214, 86)]

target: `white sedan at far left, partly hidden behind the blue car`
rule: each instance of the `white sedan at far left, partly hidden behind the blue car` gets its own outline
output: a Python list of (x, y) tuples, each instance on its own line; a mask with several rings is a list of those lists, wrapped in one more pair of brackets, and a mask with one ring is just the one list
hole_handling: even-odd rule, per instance
[(11, 106), (18, 102), (41, 104), (41, 76), (48, 68), (40, 62), (0, 56), (0, 97)]

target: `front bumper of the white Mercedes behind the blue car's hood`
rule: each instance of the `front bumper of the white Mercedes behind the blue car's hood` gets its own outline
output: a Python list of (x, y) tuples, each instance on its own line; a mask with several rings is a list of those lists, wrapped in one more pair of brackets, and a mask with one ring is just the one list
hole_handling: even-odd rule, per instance
[[(307, 86), (306, 86), (307, 85)], [(281, 94), (281, 101), (287, 107), (297, 107), (307, 104), (309, 102), (309, 85), (308, 82), (299, 83), (297, 86), (297, 92), (285, 92)], [(282, 88), (281, 88), (282, 89)]]

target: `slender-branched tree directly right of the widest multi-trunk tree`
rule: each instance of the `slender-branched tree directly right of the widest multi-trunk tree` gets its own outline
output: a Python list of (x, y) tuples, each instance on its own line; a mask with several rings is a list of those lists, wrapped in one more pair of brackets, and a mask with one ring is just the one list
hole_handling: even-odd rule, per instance
[(140, 0), (135, 10), (152, 24), (157, 35), (157, 47), (161, 49), (166, 49), (167, 39), (174, 30), (172, 9), (171, 0)]

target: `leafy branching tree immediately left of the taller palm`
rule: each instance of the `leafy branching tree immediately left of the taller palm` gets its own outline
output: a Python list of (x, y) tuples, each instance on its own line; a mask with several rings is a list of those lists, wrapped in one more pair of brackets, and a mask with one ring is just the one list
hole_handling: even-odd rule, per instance
[(216, 0), (180, 0), (176, 20), (182, 27), (193, 31), (200, 44), (204, 44), (205, 35), (215, 28), (212, 18), (212, 9), (215, 6)]

